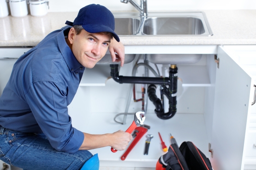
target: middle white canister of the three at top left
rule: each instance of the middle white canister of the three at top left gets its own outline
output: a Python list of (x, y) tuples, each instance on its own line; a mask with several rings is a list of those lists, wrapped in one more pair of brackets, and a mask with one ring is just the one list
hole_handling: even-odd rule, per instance
[(12, 17), (24, 17), (28, 15), (26, 0), (9, 0)]

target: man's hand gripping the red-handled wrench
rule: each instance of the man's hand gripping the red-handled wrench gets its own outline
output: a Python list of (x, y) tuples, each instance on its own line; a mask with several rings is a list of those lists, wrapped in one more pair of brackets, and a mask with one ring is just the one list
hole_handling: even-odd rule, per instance
[(109, 143), (110, 146), (113, 147), (113, 149), (122, 151), (125, 150), (131, 140), (132, 136), (130, 133), (123, 130), (118, 130), (110, 134)]

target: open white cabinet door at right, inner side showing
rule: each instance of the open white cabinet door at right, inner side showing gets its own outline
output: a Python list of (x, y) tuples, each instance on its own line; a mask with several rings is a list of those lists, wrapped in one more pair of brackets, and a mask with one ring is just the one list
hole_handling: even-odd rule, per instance
[(214, 170), (241, 170), (252, 78), (218, 46), (212, 143)]

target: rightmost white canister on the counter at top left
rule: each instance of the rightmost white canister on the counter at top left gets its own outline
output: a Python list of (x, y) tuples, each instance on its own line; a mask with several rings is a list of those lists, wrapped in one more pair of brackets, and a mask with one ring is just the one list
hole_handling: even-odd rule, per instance
[(48, 0), (29, 0), (30, 14), (35, 17), (46, 15), (49, 9)]

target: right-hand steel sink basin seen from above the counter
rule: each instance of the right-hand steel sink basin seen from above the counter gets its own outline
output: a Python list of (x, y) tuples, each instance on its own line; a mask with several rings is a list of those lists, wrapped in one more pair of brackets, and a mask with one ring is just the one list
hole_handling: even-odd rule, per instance
[(143, 33), (148, 35), (203, 34), (202, 20), (196, 17), (152, 17), (145, 20)]

